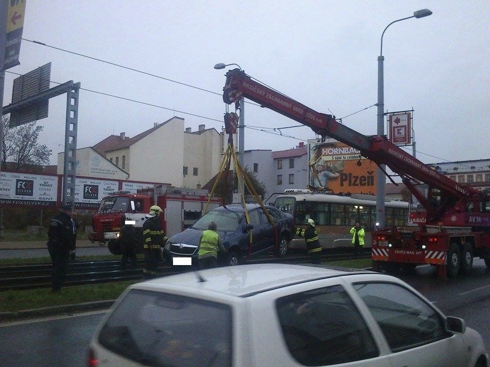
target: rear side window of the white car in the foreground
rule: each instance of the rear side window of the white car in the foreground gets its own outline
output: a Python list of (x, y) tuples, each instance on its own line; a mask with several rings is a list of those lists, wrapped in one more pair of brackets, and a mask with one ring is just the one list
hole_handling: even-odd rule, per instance
[(379, 355), (361, 314), (339, 285), (279, 298), (276, 308), (287, 348), (303, 365), (348, 363)]

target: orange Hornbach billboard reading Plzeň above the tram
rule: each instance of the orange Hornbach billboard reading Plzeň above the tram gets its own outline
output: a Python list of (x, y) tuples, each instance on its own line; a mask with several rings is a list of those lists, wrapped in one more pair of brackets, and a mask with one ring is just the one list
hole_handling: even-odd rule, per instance
[(376, 195), (376, 164), (340, 142), (308, 144), (308, 182), (334, 194)]

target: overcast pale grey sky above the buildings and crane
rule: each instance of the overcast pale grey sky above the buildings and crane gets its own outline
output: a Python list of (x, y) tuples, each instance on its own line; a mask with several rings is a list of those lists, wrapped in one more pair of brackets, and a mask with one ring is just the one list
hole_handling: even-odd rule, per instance
[[(20, 65), (6, 73), (4, 106), (18, 76), (11, 72), (24, 74), (52, 62), (53, 82), (72, 80), (82, 89), (162, 107), (81, 90), (78, 148), (121, 132), (133, 137), (174, 115), (193, 131), (200, 124), (220, 131), (228, 68), (213, 66), (223, 62), (240, 65), (318, 112), (344, 117), (377, 102), (377, 57), (386, 25), (424, 8), (433, 14), (394, 23), (384, 34), (385, 110), (414, 109), (416, 154), (424, 163), (488, 159), (488, 0), (28, 0), (24, 39), (210, 92), (23, 40)], [(40, 142), (53, 150), (52, 164), (64, 149), (65, 103), (65, 95), (51, 99), (50, 116), (39, 120)], [(371, 107), (343, 122), (375, 135), (376, 113)], [(250, 103), (245, 124), (245, 149), (283, 150), (314, 138), (308, 127), (283, 130), (294, 138), (257, 130), (274, 133), (272, 128), (298, 123)]]

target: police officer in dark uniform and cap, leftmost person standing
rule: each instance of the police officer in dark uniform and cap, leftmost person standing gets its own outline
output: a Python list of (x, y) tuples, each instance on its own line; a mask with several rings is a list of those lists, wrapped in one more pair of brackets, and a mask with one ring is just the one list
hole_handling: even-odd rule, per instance
[(53, 292), (61, 291), (66, 276), (70, 245), (76, 233), (75, 222), (71, 220), (72, 204), (63, 204), (60, 212), (51, 220), (47, 231), (47, 249), (50, 252), (53, 269), (51, 272), (51, 287)]

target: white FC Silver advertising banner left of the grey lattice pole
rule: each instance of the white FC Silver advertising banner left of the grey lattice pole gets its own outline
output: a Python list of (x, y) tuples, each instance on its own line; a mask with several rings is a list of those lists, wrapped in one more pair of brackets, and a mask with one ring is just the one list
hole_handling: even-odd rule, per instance
[(0, 173), (0, 204), (56, 206), (57, 195), (57, 176)]

